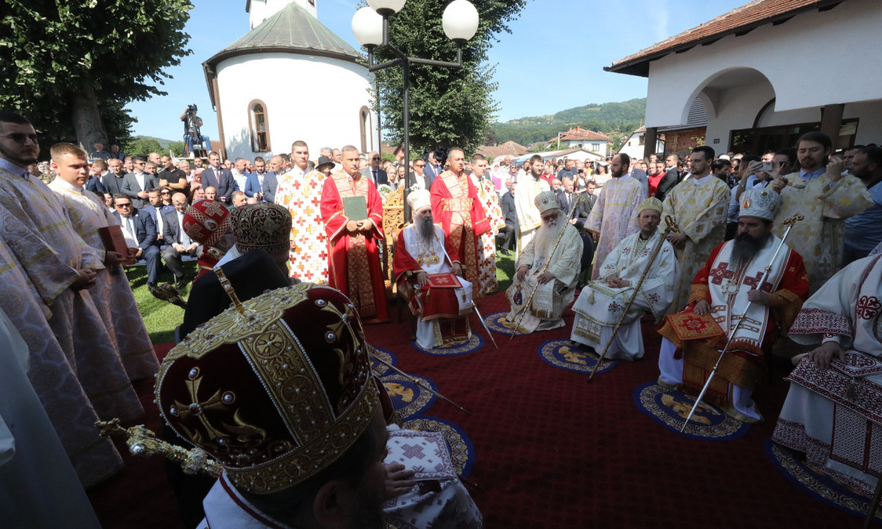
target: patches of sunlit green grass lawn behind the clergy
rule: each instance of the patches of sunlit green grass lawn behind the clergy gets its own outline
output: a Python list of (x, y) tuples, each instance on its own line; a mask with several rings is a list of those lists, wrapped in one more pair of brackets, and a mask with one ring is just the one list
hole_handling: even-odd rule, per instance
[[(195, 276), (196, 261), (184, 261), (183, 271), (188, 277)], [(129, 277), (131, 291), (135, 294), (135, 301), (138, 302), (138, 309), (141, 309), (141, 316), (144, 317), (144, 324), (147, 327), (147, 332), (150, 333), (153, 344), (173, 343), (175, 341), (175, 327), (183, 322), (183, 309), (156, 299), (153, 294), (150, 294), (150, 291), (147, 290), (147, 269), (145, 266), (130, 266), (125, 269), (125, 274)], [(499, 292), (505, 291), (512, 284), (513, 275), (514, 254), (512, 253), (509, 257), (497, 254)], [(161, 279), (168, 278), (161, 276)], [(181, 294), (183, 299), (187, 299), (190, 294), (189, 284), (187, 287), (183, 287)]]

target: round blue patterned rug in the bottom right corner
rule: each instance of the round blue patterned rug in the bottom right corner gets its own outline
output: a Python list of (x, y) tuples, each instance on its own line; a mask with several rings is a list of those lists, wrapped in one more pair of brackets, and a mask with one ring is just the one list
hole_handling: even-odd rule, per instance
[[(838, 481), (828, 473), (818, 470), (815, 466), (805, 462), (804, 456), (772, 442), (772, 437), (763, 443), (766, 455), (772, 464), (784, 474), (784, 477), (792, 481), (796, 487), (812, 495), (821, 502), (833, 505), (858, 518), (867, 517), (867, 509), (870, 498), (858, 492), (855, 488), (848, 487), (842, 481)], [(882, 522), (882, 510), (876, 510), (876, 523)]]

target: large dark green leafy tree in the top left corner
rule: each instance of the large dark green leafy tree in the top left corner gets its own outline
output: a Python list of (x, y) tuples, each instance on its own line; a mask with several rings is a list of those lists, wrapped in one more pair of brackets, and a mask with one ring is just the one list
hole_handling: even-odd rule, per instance
[(41, 133), (92, 149), (128, 143), (130, 101), (165, 95), (163, 70), (190, 55), (189, 0), (7, 0), (0, 24), (0, 107)]

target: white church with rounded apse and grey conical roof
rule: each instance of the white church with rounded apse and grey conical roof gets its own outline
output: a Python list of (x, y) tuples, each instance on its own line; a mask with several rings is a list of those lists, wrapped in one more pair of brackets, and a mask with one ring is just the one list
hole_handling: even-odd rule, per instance
[(373, 75), (318, 21), (316, 1), (247, 0), (251, 31), (202, 63), (226, 158), (290, 153), (295, 140), (312, 158), (323, 146), (377, 149)]

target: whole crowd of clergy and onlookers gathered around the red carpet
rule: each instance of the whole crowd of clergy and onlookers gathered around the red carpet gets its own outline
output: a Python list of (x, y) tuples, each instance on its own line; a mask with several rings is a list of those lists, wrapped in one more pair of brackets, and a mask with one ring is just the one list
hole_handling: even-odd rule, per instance
[[(811, 447), (833, 444), (833, 402), (849, 421), (869, 420), (836, 393), (841, 380), (882, 394), (878, 376), (846, 361), (882, 347), (877, 146), (835, 153), (812, 132), (756, 156), (699, 146), (683, 160), (537, 154), (520, 164), (451, 147), (406, 167), (352, 145), (310, 160), (303, 141), (270, 160), (213, 152), (207, 162), (61, 143), (41, 164), (25, 117), (0, 112), (0, 132), (0, 330), (30, 350), (27, 376), (86, 486), (122, 462), (93, 422), (137, 418), (131, 381), (158, 373), (166, 438), (224, 469), (207, 484), (173, 478), (188, 523), (379, 526), (385, 505), (415, 526), (481, 526), (455, 473), (426, 476), (387, 454), (396, 436), (431, 440), (392, 424), (362, 325), (389, 319), (391, 266), (417, 345), (464, 342), (469, 315), (497, 290), (497, 254), (512, 250), (512, 333), (564, 327), (572, 308), (574, 342), (634, 360), (651, 315), (663, 337), (658, 384), (697, 393), (725, 353), (705, 399), (747, 422), (762, 419), (752, 390), (774, 348), (798, 362), (775, 441), (873, 482), (863, 459)], [(393, 193), (411, 212), (403, 227), (384, 224)], [(185, 257), (198, 273), (181, 341), (160, 366), (123, 265), (143, 260), (157, 289), (164, 262), (183, 287)], [(838, 378), (824, 387), (821, 371)], [(232, 384), (229, 373), (248, 376)], [(295, 378), (303, 396), (289, 391)], [(836, 443), (871, 453), (863, 436)], [(445, 467), (449, 454), (436, 453)]]

